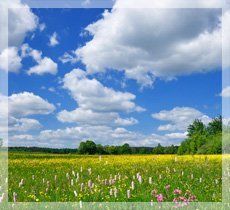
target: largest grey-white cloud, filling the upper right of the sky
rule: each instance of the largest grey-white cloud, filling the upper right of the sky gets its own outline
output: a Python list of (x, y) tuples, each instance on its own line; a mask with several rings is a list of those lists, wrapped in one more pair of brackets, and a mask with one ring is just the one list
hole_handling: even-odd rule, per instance
[(124, 70), (141, 85), (152, 85), (156, 77), (221, 66), (220, 10), (120, 9), (118, 4), (122, 1), (87, 26), (93, 38), (75, 51), (75, 61), (89, 73)]

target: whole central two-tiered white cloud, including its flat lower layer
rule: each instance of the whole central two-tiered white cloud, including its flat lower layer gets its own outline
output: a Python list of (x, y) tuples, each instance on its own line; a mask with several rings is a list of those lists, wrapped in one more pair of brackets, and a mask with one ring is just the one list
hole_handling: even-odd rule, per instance
[(74, 69), (65, 75), (63, 87), (69, 90), (78, 108), (59, 112), (57, 118), (61, 122), (129, 126), (138, 121), (134, 118), (121, 118), (119, 112), (144, 111), (135, 104), (135, 95), (105, 87), (98, 80), (87, 78), (86, 72), (80, 69)]

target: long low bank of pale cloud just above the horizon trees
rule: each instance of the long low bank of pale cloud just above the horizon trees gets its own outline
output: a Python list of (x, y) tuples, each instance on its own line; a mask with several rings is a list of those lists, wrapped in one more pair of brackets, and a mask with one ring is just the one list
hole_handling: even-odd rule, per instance
[(28, 136), (21, 135), (20, 141), (16, 141), (15, 136), (10, 137), (12, 145), (31, 145), (43, 147), (71, 147), (76, 148), (81, 141), (93, 139), (97, 144), (121, 145), (128, 143), (131, 146), (156, 146), (178, 145), (185, 137), (184, 133), (176, 134), (150, 134), (144, 135), (140, 132), (129, 131), (123, 127), (111, 128), (106, 125), (84, 125), (77, 127), (67, 127), (57, 130), (43, 130), (37, 136), (29, 136), (33, 142), (27, 141)]

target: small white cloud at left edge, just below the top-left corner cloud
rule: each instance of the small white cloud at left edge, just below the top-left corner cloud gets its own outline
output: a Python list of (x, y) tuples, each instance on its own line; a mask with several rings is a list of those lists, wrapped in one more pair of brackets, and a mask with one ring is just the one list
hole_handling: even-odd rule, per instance
[(17, 47), (5, 48), (0, 53), (0, 70), (18, 72), (22, 67), (21, 57), (18, 55)]

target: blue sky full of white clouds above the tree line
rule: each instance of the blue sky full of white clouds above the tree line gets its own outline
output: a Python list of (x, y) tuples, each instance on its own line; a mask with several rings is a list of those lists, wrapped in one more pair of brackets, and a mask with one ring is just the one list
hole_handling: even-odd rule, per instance
[(221, 10), (119, 4), (10, 10), (9, 146), (179, 145), (221, 114)]

